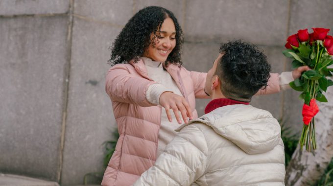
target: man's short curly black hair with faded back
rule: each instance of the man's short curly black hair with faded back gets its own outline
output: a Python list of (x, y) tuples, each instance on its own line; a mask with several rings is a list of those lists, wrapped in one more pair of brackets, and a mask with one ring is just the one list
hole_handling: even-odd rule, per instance
[(255, 93), (266, 88), (271, 66), (257, 46), (238, 40), (222, 44), (219, 52), (223, 56), (215, 74), (220, 77), (224, 96), (249, 102)]

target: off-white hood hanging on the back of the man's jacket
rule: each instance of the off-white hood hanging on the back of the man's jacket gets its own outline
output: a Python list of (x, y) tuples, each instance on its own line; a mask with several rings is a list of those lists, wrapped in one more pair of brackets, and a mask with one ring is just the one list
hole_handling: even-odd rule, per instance
[(280, 141), (279, 122), (268, 112), (251, 105), (227, 105), (191, 120), (185, 126), (201, 122), (211, 126), (220, 136), (232, 141), (248, 154), (272, 150)]

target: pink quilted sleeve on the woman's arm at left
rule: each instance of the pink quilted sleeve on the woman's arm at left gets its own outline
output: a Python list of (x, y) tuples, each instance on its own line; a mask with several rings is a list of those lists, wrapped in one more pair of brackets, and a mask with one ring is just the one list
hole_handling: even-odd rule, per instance
[(113, 101), (138, 104), (143, 107), (153, 106), (146, 99), (148, 87), (156, 82), (129, 72), (126, 65), (112, 67), (105, 80), (105, 91)]

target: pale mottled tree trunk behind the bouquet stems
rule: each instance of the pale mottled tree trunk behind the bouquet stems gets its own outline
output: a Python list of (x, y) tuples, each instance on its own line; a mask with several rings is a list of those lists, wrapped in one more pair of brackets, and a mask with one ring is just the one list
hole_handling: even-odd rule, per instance
[[(329, 87), (326, 98), (328, 103), (317, 101), (319, 113), (315, 116), (317, 150), (300, 151), (298, 145), (287, 167), (286, 186), (309, 186), (324, 173), (333, 157), (333, 86)], [(301, 109), (301, 108), (300, 108)]]

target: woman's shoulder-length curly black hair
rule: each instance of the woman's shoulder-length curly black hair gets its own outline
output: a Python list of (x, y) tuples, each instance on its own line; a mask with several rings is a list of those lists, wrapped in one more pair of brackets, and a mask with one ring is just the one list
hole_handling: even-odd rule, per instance
[(153, 36), (153, 39), (150, 40), (150, 34), (156, 34), (158, 28), (161, 27), (164, 20), (168, 17), (171, 18), (175, 24), (176, 46), (168, 55), (166, 65), (173, 63), (181, 66), (180, 50), (183, 43), (182, 29), (173, 13), (159, 6), (143, 8), (126, 23), (113, 43), (113, 46), (110, 47), (111, 59), (108, 60), (109, 64), (114, 66), (119, 63), (128, 63), (132, 59), (134, 59), (135, 62), (139, 61), (145, 49), (150, 44), (155, 44), (157, 36)]

